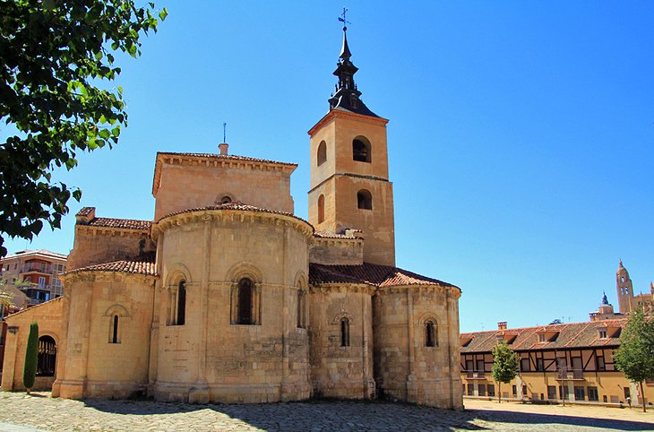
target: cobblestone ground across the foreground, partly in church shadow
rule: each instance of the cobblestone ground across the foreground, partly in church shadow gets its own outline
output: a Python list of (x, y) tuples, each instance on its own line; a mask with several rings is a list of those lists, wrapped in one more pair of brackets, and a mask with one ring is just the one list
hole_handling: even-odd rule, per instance
[(654, 412), (639, 414), (637, 411), (595, 407), (560, 410), (555, 406), (487, 401), (466, 401), (466, 405), (468, 409), (462, 412), (392, 402), (191, 405), (151, 401), (71, 401), (52, 399), (49, 393), (28, 396), (0, 392), (0, 431), (654, 430)]

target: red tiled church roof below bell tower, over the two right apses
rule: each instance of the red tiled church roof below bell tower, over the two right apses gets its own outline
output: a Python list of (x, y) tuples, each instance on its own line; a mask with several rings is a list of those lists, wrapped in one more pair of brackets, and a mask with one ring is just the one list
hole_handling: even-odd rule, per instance
[(364, 263), (360, 265), (309, 264), (309, 282), (321, 283), (366, 283), (376, 287), (399, 285), (440, 285), (457, 288), (451, 283), (427, 278), (390, 265)]

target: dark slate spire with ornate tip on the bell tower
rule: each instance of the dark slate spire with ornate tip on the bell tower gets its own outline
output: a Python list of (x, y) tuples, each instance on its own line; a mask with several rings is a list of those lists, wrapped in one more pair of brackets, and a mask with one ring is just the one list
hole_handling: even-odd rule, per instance
[(339, 78), (339, 82), (336, 84), (336, 91), (329, 99), (330, 111), (340, 109), (364, 116), (378, 117), (359, 99), (361, 91), (358, 91), (357, 84), (354, 82), (354, 74), (357, 73), (358, 68), (350, 60), (352, 52), (349, 50), (348, 45), (347, 24), (349, 22), (345, 19), (347, 12), (348, 9), (343, 8), (343, 13), (339, 17), (339, 21), (343, 23), (343, 46), (340, 48), (339, 62), (336, 64), (336, 70), (334, 71), (334, 75)]

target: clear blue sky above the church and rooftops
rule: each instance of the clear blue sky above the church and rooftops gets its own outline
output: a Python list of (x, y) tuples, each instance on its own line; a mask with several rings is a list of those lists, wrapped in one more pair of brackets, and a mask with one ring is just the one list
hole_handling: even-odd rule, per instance
[[(335, 2), (157, 2), (143, 56), (121, 59), (129, 126), (113, 150), (57, 173), (82, 188), (64, 228), (29, 247), (67, 253), (74, 213), (151, 219), (157, 151), (299, 164), (328, 108), (340, 52)], [(368, 108), (389, 118), (398, 266), (463, 290), (461, 331), (583, 321), (622, 259), (654, 279), (654, 3), (348, 4)], [(0, 130), (0, 134), (2, 131)]]

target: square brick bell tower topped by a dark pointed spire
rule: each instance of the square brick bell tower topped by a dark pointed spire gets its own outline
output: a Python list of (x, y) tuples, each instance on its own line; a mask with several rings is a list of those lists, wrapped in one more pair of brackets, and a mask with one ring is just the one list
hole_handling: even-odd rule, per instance
[(392, 183), (388, 177), (386, 124), (359, 99), (347, 27), (334, 75), (330, 109), (309, 131), (309, 222), (317, 231), (360, 229), (364, 261), (395, 265)]

